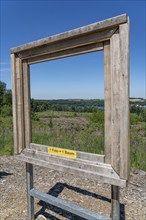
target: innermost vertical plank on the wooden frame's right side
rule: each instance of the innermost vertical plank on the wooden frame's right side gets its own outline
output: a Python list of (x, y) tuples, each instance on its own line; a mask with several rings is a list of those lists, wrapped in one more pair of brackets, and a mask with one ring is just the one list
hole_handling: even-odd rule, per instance
[(111, 66), (109, 41), (104, 43), (104, 121), (105, 163), (111, 163)]

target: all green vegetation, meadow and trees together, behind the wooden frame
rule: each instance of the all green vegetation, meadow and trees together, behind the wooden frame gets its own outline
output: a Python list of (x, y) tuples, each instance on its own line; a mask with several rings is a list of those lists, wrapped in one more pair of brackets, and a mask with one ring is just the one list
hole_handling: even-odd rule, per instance
[[(12, 94), (0, 82), (0, 155), (13, 154)], [(145, 100), (144, 100), (145, 101)], [(103, 100), (31, 100), (32, 141), (104, 153)], [(131, 105), (131, 167), (146, 171), (146, 109)]]

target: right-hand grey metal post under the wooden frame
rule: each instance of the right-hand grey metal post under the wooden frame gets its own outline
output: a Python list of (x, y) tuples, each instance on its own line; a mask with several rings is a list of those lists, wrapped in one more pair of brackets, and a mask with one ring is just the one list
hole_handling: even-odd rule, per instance
[(112, 194), (111, 218), (112, 220), (120, 220), (119, 187), (112, 185), (111, 194)]

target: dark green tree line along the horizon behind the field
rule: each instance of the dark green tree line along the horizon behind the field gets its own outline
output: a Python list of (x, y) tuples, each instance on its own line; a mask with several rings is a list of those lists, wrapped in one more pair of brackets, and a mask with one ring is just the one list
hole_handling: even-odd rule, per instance
[[(104, 100), (101, 99), (57, 99), (37, 100), (31, 99), (31, 112), (70, 111), (70, 112), (96, 112), (100, 107), (104, 109)], [(146, 105), (146, 100), (140, 103), (130, 102), (130, 112), (145, 119), (146, 110), (138, 104)], [(12, 115), (12, 91), (6, 88), (6, 83), (0, 81), (0, 115)]]

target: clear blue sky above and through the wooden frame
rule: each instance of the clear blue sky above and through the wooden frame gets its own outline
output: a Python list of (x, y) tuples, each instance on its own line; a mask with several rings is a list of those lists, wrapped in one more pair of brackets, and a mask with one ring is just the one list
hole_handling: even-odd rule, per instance
[[(0, 80), (11, 88), (10, 48), (120, 14), (130, 16), (130, 96), (145, 95), (145, 1), (1, 0)], [(103, 98), (103, 52), (31, 65), (31, 96)]]

